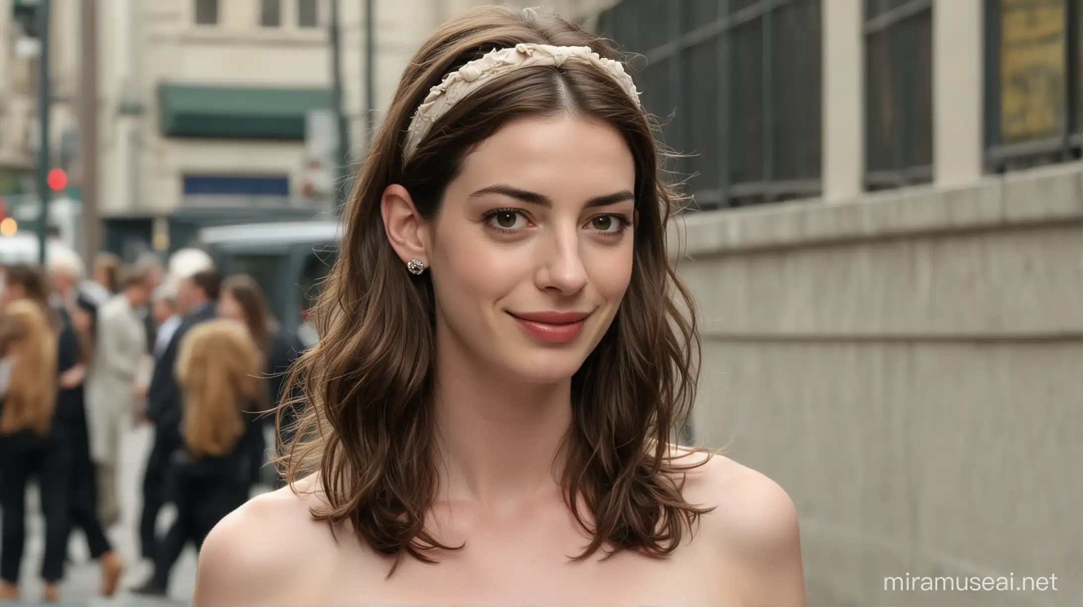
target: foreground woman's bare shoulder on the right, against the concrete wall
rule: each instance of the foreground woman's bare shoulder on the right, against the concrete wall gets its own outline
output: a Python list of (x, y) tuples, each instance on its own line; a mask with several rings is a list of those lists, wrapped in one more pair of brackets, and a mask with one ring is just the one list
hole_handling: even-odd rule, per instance
[[(682, 463), (707, 459), (690, 453)], [(758, 605), (805, 605), (797, 509), (782, 487), (766, 475), (720, 454), (689, 470), (689, 503), (714, 508), (701, 519), (696, 541), (739, 567), (747, 600)]]

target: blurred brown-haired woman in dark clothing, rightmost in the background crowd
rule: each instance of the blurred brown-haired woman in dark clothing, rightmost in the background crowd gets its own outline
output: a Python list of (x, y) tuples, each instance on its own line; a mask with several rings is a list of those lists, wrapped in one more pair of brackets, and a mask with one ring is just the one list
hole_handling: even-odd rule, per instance
[[(277, 409), (283, 401), (286, 373), (303, 349), (297, 336), (278, 326), (268, 308), (263, 289), (256, 279), (247, 274), (230, 276), (222, 283), (218, 315), (239, 321), (248, 327), (252, 339), (266, 359), (268, 410)], [(296, 418), (295, 410), (291, 406), (287, 408), (283, 415), (282, 429), (276, 432), (282, 437), (280, 444), (289, 444), (292, 439), (291, 431)], [(253, 441), (253, 449), (256, 449), (253, 459), (256, 466), (252, 469), (255, 482), (259, 478), (259, 469), (263, 464), (263, 453), (266, 449), (262, 434)]]

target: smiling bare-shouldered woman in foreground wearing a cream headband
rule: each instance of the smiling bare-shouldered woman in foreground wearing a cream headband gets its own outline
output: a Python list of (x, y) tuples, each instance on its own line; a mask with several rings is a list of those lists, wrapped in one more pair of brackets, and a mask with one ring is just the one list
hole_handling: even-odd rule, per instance
[(407, 64), (295, 372), (290, 487), (211, 532), (194, 604), (804, 604), (786, 493), (669, 443), (697, 334), (615, 56), (485, 8)]

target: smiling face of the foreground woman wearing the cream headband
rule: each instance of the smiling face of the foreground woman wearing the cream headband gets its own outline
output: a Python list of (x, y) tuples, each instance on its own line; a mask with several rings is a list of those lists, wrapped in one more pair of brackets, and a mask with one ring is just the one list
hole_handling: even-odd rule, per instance
[(631, 277), (635, 183), (621, 134), (573, 117), (511, 122), (467, 156), (428, 231), (442, 354), (571, 377)]

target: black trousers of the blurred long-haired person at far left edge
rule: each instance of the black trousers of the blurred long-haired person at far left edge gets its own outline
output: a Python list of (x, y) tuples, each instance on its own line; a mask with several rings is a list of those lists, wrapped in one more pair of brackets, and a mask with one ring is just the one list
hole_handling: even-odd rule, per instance
[(45, 518), (45, 554), (41, 579), (58, 582), (64, 577), (69, 524), (68, 482), (71, 450), (56, 436), (29, 431), (0, 437), (0, 578), (18, 583), (26, 545), (26, 488), (37, 477), (41, 509)]

